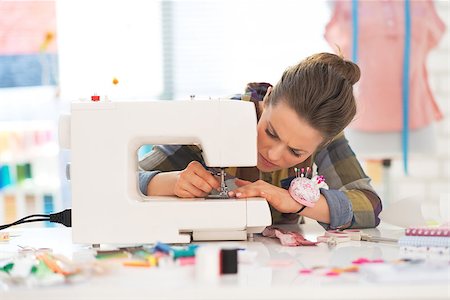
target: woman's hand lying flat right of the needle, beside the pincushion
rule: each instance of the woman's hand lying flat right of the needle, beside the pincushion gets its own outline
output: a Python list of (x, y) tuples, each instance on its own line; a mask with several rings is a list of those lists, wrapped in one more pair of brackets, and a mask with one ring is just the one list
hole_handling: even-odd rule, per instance
[(289, 192), (285, 189), (274, 186), (264, 180), (250, 182), (242, 179), (235, 179), (237, 189), (228, 193), (230, 197), (265, 198), (276, 210), (282, 213), (295, 213), (302, 205), (292, 199)]

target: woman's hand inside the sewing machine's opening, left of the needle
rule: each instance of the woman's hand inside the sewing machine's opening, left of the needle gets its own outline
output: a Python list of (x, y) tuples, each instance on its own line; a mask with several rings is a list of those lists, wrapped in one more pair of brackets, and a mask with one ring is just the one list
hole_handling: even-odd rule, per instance
[(212, 189), (220, 190), (220, 182), (198, 161), (192, 161), (178, 172), (173, 193), (181, 198), (205, 197)]

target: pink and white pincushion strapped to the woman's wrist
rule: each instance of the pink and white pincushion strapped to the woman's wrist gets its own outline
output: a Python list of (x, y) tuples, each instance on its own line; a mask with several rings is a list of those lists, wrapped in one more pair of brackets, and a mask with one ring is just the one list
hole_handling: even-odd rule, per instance
[(291, 181), (289, 194), (300, 204), (313, 207), (320, 198), (319, 185), (309, 178), (297, 177)]

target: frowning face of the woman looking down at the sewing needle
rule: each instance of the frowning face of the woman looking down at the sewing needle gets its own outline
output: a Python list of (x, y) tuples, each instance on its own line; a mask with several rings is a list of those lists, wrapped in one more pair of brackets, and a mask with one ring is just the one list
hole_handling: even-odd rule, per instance
[(258, 169), (272, 172), (306, 160), (322, 143), (319, 131), (281, 100), (264, 108), (258, 121)]

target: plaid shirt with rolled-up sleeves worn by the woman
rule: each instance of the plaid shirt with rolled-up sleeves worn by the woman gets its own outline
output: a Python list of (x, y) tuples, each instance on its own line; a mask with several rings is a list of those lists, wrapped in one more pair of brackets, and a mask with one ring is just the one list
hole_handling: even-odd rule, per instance
[[(265, 92), (256, 88), (267, 89), (268, 84), (252, 83), (247, 86), (244, 95), (232, 99), (257, 102), (262, 100)], [(139, 162), (139, 187), (147, 194), (150, 180), (159, 172), (183, 170), (193, 160), (205, 165), (201, 150), (194, 145), (157, 145)], [(364, 173), (360, 163), (351, 150), (344, 134), (338, 135), (326, 148), (319, 150), (303, 163), (295, 166), (305, 168), (313, 166), (323, 175), (329, 186), (321, 189), (330, 210), (330, 224), (319, 222), (325, 229), (336, 228), (370, 228), (380, 223), (381, 200), (370, 185), (370, 178)], [(239, 177), (242, 168), (227, 168), (230, 177)], [(259, 173), (259, 178), (278, 187), (289, 188), (294, 176), (294, 167), (270, 173)], [(246, 179), (246, 178), (243, 178)], [(227, 183), (232, 181), (228, 180)], [(297, 214), (280, 213), (271, 207), (273, 223), (298, 222)]]

